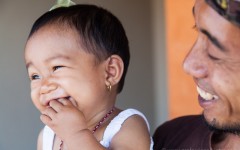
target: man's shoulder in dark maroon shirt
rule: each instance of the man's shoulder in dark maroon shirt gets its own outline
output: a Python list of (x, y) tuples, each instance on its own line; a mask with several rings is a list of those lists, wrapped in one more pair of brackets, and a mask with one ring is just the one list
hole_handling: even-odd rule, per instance
[(157, 128), (153, 139), (155, 149), (207, 148), (211, 131), (201, 115), (183, 116)]

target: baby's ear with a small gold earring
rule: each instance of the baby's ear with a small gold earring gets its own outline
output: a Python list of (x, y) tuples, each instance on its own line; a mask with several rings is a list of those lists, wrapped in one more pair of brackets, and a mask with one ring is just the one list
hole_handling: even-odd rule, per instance
[(116, 85), (122, 77), (124, 70), (124, 64), (121, 57), (118, 55), (111, 55), (106, 60), (106, 78), (105, 84), (106, 86), (113, 86)]

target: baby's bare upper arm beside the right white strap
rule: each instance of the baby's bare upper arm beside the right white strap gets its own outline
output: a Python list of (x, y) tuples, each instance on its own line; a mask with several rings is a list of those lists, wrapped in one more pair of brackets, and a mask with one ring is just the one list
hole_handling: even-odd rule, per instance
[(150, 134), (145, 120), (139, 115), (128, 118), (120, 131), (113, 137), (113, 150), (149, 150)]

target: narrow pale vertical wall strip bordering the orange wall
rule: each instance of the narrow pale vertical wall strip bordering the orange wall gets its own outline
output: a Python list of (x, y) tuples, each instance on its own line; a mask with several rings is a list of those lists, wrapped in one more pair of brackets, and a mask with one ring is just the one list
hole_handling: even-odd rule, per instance
[(165, 41), (165, 16), (164, 1), (151, 1), (152, 18), (152, 54), (154, 78), (154, 121), (153, 128), (168, 119), (168, 94), (167, 94), (167, 53)]

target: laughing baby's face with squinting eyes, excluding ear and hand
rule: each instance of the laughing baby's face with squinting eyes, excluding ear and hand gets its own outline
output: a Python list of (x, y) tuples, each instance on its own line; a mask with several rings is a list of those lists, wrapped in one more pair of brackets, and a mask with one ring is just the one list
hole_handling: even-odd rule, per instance
[[(82, 50), (73, 31), (44, 27), (27, 42), (25, 61), (31, 98), (42, 112), (51, 100), (66, 98), (84, 114), (105, 105), (105, 61)], [(86, 116), (87, 117), (87, 116)]]

